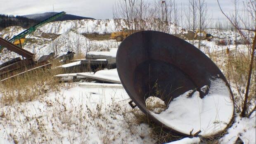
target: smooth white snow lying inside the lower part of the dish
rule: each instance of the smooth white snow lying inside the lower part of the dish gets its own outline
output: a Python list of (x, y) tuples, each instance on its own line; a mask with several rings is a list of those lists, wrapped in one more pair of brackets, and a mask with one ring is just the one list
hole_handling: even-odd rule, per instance
[(192, 135), (201, 130), (199, 135), (210, 136), (223, 131), (233, 116), (234, 106), (230, 91), (221, 79), (211, 80), (209, 93), (201, 99), (199, 92), (188, 95), (185, 92), (170, 102), (168, 109), (156, 114), (156, 119), (174, 130)]

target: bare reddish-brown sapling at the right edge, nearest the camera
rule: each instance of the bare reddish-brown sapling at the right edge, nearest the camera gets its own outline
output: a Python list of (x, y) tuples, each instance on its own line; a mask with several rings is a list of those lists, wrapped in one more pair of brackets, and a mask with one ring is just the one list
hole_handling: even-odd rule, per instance
[[(218, 0), (217, 0), (218, 1)], [(239, 22), (237, 22), (237, 12), (235, 12), (235, 15), (232, 14), (230, 16), (228, 16), (227, 14), (225, 14), (225, 12), (223, 12), (223, 10), (220, 7), (220, 3), (218, 1), (218, 5), (220, 7), (221, 12), (225, 15), (225, 17), (228, 19), (228, 21), (230, 21), (230, 23), (232, 24), (232, 26), (234, 26), (239, 35), (241, 36), (242, 40), (244, 41), (244, 43), (246, 44), (249, 54), (247, 57), (248, 59), (248, 63), (249, 66), (247, 68), (245, 68), (246, 73), (248, 74), (246, 77), (246, 86), (245, 87), (239, 87), (239, 89), (241, 89), (242, 91), (244, 91), (245, 93), (242, 93), (242, 98), (244, 97), (243, 101), (242, 101), (242, 112), (241, 112), (241, 116), (242, 117), (246, 117), (249, 116), (248, 114), (251, 113), (251, 109), (249, 109), (249, 98), (250, 98), (250, 87), (253, 85), (254, 81), (252, 78), (252, 73), (255, 72), (254, 66), (255, 66), (255, 61), (254, 61), (254, 57), (255, 57), (255, 47), (256, 47), (256, 25), (255, 25), (255, 21), (256, 21), (256, 2), (255, 0), (248, 0), (247, 1), (247, 5), (246, 5), (246, 9), (248, 11), (247, 15), (245, 15), (244, 17), (250, 17), (251, 21), (244, 21), (243, 19), (241, 19), (241, 16), (239, 19)], [(251, 26), (251, 22), (253, 22), (254, 26)], [(253, 43), (250, 43), (250, 39), (245, 35), (245, 31), (242, 31), (243, 29), (247, 29), (247, 30), (251, 30), (251, 28), (254, 27), (254, 38), (253, 38)], [(247, 63), (247, 64), (248, 64)], [(231, 66), (232, 63), (230, 63)], [(234, 78), (234, 80), (236, 80), (237, 78)], [(255, 97), (255, 94), (253, 95), (253, 97)], [(254, 108), (252, 109), (252, 111), (255, 111), (255, 104), (254, 104)]]

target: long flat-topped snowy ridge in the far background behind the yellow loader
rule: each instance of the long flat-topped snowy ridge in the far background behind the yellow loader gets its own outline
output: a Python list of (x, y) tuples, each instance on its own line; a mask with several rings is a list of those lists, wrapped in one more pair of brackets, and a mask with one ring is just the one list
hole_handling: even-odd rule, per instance
[[(119, 25), (120, 26), (116, 26)], [(170, 23), (169, 33), (182, 33), (182, 27), (175, 26), (173, 23)], [(158, 27), (148, 26), (151, 30), (156, 30)], [(69, 21), (55, 21), (46, 24), (41, 27), (40, 30), (45, 33), (56, 33), (62, 34), (73, 29), (78, 33), (112, 33), (114, 31), (121, 30), (121, 28), (127, 28), (127, 25), (124, 20), (119, 19), (117, 24), (114, 19), (83, 19), (83, 20), (69, 20)], [(186, 32), (183, 32), (186, 33)]]

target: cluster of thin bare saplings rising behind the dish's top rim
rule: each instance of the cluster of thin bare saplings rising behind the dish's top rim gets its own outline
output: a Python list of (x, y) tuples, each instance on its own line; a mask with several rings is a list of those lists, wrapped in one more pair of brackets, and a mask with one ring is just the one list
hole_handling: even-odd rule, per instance
[(172, 13), (174, 4), (174, 0), (119, 0), (113, 9), (116, 27), (121, 30), (125, 24), (130, 30), (170, 33), (172, 19), (175, 19), (174, 26), (178, 26), (177, 7)]

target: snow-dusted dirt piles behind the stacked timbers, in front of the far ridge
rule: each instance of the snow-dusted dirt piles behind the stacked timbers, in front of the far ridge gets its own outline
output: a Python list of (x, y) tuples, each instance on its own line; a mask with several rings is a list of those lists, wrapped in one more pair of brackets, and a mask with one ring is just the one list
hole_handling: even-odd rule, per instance
[[(10, 33), (12, 29), (19, 29), (16, 33)], [(5, 37), (13, 36), (19, 32), (23, 31), (19, 27), (14, 26), (13, 28), (7, 28), (6, 30), (1, 31), (2, 33), (10, 33), (9, 35), (5, 34)], [(116, 40), (90, 40), (79, 34), (77, 31), (69, 30), (65, 33), (62, 33), (55, 39), (42, 38), (42, 31), (36, 31), (31, 35), (27, 35), (26, 38), (30, 40), (25, 43), (22, 47), (25, 50), (28, 50), (36, 55), (36, 59), (39, 59), (41, 56), (50, 54), (51, 52), (66, 52), (73, 51), (76, 53), (83, 53), (90, 51), (108, 51), (111, 48), (117, 48), (120, 42)], [(51, 34), (48, 34), (51, 35)], [(0, 64), (9, 61), (15, 57), (21, 57), (19, 54), (8, 51), (6, 48), (0, 53)]]

